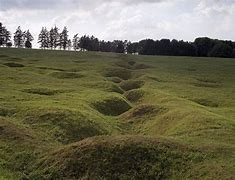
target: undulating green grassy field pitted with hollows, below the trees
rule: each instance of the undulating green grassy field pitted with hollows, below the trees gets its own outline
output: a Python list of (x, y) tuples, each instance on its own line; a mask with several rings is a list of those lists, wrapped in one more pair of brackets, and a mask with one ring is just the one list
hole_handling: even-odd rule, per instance
[(235, 179), (235, 59), (0, 49), (0, 179)]

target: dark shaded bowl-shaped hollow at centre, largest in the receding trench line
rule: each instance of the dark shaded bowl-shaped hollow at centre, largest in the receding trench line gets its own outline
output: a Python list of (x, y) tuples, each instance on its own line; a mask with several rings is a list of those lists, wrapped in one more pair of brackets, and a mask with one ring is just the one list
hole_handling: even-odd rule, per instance
[(131, 108), (131, 105), (119, 96), (110, 96), (100, 101), (95, 101), (92, 106), (104, 115), (118, 116)]

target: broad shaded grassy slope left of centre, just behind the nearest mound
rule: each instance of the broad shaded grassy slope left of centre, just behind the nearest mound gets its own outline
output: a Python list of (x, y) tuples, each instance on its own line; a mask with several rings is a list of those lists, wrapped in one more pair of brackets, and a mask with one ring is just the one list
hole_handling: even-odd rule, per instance
[(23, 113), (24, 122), (46, 131), (54, 139), (74, 142), (102, 135), (106, 131), (79, 111), (58, 108), (40, 108)]

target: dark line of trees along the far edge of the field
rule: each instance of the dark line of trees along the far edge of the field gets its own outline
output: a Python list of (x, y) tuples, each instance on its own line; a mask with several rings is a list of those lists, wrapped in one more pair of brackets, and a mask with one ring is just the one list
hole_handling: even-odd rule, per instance
[[(122, 40), (104, 41), (94, 36), (81, 36), (75, 34), (69, 38), (67, 27), (59, 31), (57, 26), (47, 30), (42, 27), (38, 35), (41, 49), (63, 49), (74, 51), (101, 51), (115, 53), (129, 53), (141, 55), (167, 55), (167, 56), (197, 56), (197, 57), (235, 57), (235, 42), (210, 39), (208, 37), (196, 38), (194, 42), (183, 40), (153, 40), (144, 39), (139, 42)], [(17, 48), (32, 48), (32, 34), (22, 31), (20, 26), (16, 29), (13, 41)], [(11, 47), (11, 33), (0, 23), (0, 47)]]

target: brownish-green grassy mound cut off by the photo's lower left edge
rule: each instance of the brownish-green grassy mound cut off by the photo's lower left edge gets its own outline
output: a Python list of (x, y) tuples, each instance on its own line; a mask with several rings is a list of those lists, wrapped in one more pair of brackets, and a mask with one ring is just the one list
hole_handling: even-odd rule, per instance
[(36, 147), (43, 150), (48, 142), (32, 129), (0, 117), (0, 179), (19, 179), (36, 159)]

